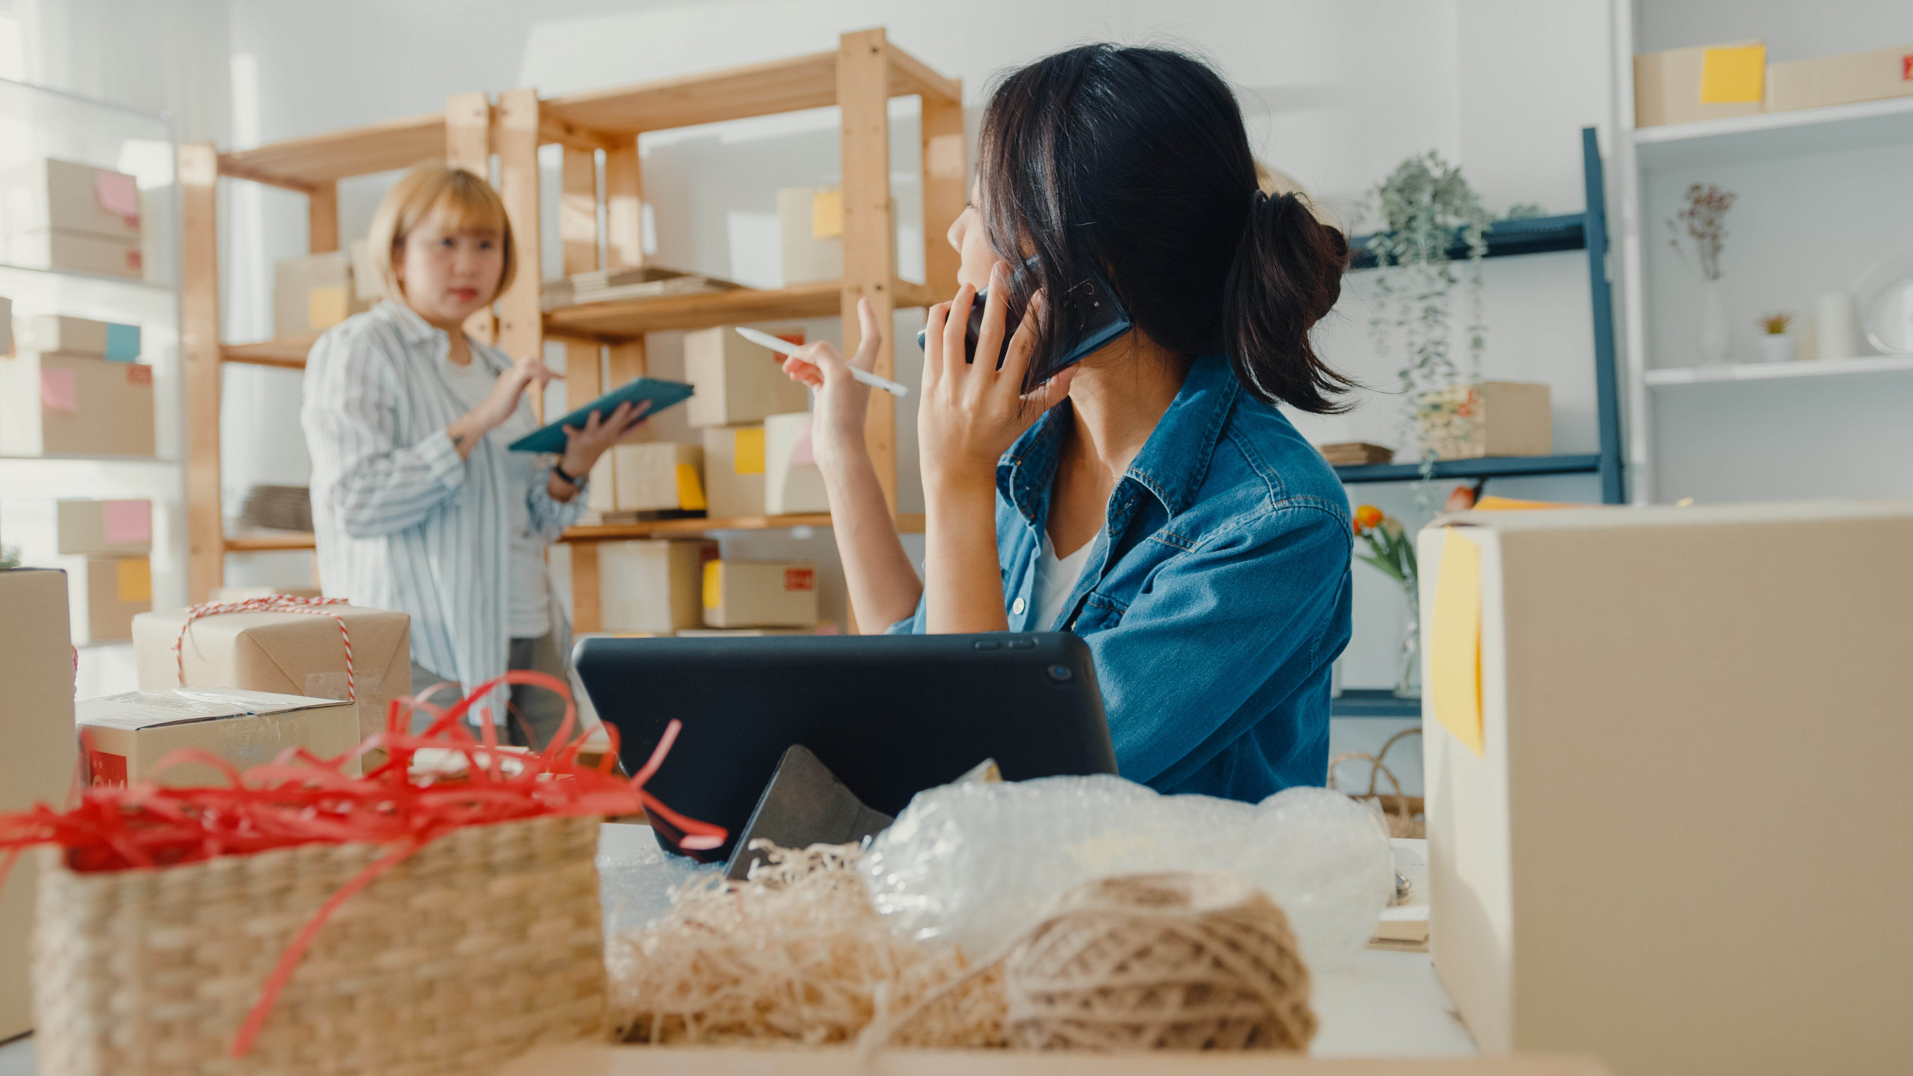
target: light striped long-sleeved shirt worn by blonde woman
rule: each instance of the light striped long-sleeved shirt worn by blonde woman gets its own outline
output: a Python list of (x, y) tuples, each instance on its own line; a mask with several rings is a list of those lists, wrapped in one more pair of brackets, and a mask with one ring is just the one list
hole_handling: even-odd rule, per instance
[[(547, 469), (526, 469), (490, 437), (459, 460), (446, 427), (471, 408), (451, 387), (450, 350), (398, 303), (348, 318), (312, 345), (300, 425), (325, 595), (407, 613), (411, 661), (473, 687), (509, 659), (511, 498), (545, 542), (583, 498), (551, 500)], [(511, 368), (494, 347), (471, 350), (492, 377)], [(528, 394), (518, 415), (532, 421)]]

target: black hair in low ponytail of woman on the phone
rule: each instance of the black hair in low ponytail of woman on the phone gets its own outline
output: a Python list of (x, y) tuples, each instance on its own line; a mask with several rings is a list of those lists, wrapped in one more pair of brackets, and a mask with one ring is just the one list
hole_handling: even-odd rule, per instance
[[(1310, 327), (1341, 295), (1349, 243), (1295, 195), (1264, 199), (1242, 109), (1205, 63), (1090, 44), (1010, 73), (983, 113), (978, 178), (991, 243), (1035, 255), (1008, 297), (1066, 295), (1090, 270), (1178, 354), (1228, 352), (1255, 396), (1331, 414), (1352, 385)], [(1027, 387), (1054, 373), (1079, 316), (1046, 303)]]

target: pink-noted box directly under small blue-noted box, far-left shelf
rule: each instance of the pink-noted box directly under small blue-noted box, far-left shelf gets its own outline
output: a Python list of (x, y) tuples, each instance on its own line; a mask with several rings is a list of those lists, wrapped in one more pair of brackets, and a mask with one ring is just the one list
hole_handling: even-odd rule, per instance
[(0, 456), (153, 456), (153, 368), (84, 354), (0, 358)]

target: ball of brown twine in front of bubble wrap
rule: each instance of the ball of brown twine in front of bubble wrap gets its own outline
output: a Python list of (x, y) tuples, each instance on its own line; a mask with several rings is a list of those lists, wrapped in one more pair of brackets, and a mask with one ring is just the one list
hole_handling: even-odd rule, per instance
[(1079, 885), (1004, 963), (1012, 1047), (1305, 1049), (1316, 1020), (1289, 919), (1236, 875)]

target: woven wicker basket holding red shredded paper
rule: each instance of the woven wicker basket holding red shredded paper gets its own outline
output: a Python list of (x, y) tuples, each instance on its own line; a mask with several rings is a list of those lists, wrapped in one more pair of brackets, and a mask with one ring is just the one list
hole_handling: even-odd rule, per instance
[(490, 1072), (603, 1038), (599, 819), (459, 829), (346, 900), (253, 1051), (228, 1049), (314, 911), (386, 848), (306, 844), (165, 869), (42, 850), (33, 952), (42, 1076)]

